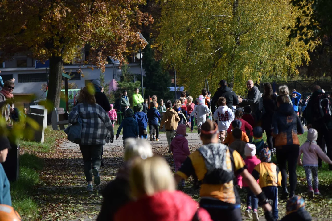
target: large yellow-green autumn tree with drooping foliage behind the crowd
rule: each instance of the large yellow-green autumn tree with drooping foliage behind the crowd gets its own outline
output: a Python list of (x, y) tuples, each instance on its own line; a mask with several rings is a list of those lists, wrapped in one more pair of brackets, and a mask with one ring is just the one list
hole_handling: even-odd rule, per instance
[(289, 0), (164, 1), (158, 37), (164, 64), (176, 65), (177, 80), (194, 95), (206, 78), (210, 91), (225, 79), (244, 94), (248, 79), (286, 78), (309, 61), (314, 43), (296, 37), (286, 46), (298, 16), (304, 15)]

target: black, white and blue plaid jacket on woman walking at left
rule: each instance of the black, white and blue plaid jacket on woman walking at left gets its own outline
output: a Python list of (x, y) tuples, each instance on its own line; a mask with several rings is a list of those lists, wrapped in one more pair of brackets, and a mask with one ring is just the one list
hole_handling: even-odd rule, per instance
[(82, 145), (104, 145), (111, 137), (114, 130), (106, 111), (99, 104), (79, 103), (69, 114), (69, 123), (75, 124), (77, 118), (82, 119)]

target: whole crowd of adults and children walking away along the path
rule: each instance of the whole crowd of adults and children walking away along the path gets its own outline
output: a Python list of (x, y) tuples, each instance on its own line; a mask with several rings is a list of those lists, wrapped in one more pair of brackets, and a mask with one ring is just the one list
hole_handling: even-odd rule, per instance
[[(5, 82), (6, 92), (0, 91), (8, 113), (11, 113), (13, 84)], [(88, 191), (93, 191), (93, 182), (95, 185), (101, 182), (103, 146), (112, 143), (114, 137), (118, 139), (121, 131), (123, 134), (124, 165), (116, 179), (103, 190), (98, 221), (242, 220), (239, 189), (247, 192), (246, 217), (258, 221), (262, 215), (258, 211), (260, 206), (267, 220), (279, 220), (279, 186), (282, 187), (280, 198), (288, 200), (287, 215), (281, 220), (311, 220), (303, 198), (295, 194), (296, 165), (304, 167), (308, 197), (319, 195), (317, 168), (323, 160), (332, 169), (331, 98), (319, 86), (314, 86), (310, 99), (304, 100), (295, 90), (290, 96), (286, 85), (279, 87), (278, 95), (271, 84), (264, 83), (261, 93), (248, 80), (248, 93), (243, 98), (225, 80), (219, 86), (212, 97), (204, 88), (196, 99), (182, 92), (180, 99), (173, 103), (160, 100), (159, 104), (155, 95), (151, 102), (146, 102), (135, 89), (132, 109), (127, 92), (123, 91), (119, 104), (124, 119), (116, 132), (117, 112), (102, 92), (100, 82), (94, 80), (81, 89), (78, 103), (69, 114), (69, 123), (72, 128), (80, 127), (79, 139), (75, 142), (83, 156)], [(93, 87), (95, 93), (88, 87)], [(193, 132), (194, 124), (202, 146), (190, 152), (187, 128)], [(300, 146), (298, 135), (304, 133), (304, 124), (308, 128), (307, 141)], [(148, 133), (150, 141), (159, 141), (161, 129), (166, 131), (175, 175), (162, 157), (152, 156), (152, 147), (146, 141)], [(327, 155), (323, 143), (327, 146)], [(10, 148), (4, 145), (0, 144), (1, 161)], [(277, 164), (272, 162), (273, 155)], [(199, 204), (176, 191), (176, 186), (184, 187), (190, 176), (200, 188)], [(6, 187), (6, 180), (0, 180), (0, 184), (0, 188)], [(0, 203), (10, 205), (8, 195), (5, 198), (0, 193)]]

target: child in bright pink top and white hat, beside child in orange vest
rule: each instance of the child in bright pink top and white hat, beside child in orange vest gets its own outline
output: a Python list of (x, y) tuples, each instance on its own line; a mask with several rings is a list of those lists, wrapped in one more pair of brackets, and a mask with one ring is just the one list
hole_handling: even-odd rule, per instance
[[(261, 163), (261, 160), (257, 158), (256, 156), (256, 146), (255, 144), (247, 143), (244, 147), (244, 155), (246, 156), (246, 159), (244, 159), (244, 162), (246, 163), (247, 169), (249, 173), (251, 174), (254, 170), (255, 166)], [(258, 180), (257, 180), (258, 182)], [(244, 212), (244, 215), (248, 218), (251, 217), (251, 210), (253, 210), (253, 216), (258, 217), (258, 198), (251, 192), (248, 185), (245, 182), (242, 182), (242, 176), (238, 176), (237, 178), (237, 184), (240, 188), (245, 187), (247, 190), (247, 209)]]

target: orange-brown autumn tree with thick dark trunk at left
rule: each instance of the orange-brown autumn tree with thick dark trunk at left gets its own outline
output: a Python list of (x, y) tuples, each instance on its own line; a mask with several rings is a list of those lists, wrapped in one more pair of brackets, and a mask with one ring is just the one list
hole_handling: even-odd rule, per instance
[(82, 62), (90, 46), (89, 64), (104, 71), (107, 56), (124, 61), (126, 43), (141, 44), (138, 27), (152, 18), (138, 9), (145, 0), (5, 0), (0, 2), (0, 51), (10, 59), (30, 51), (49, 60), (47, 101), (59, 106), (63, 62)]

